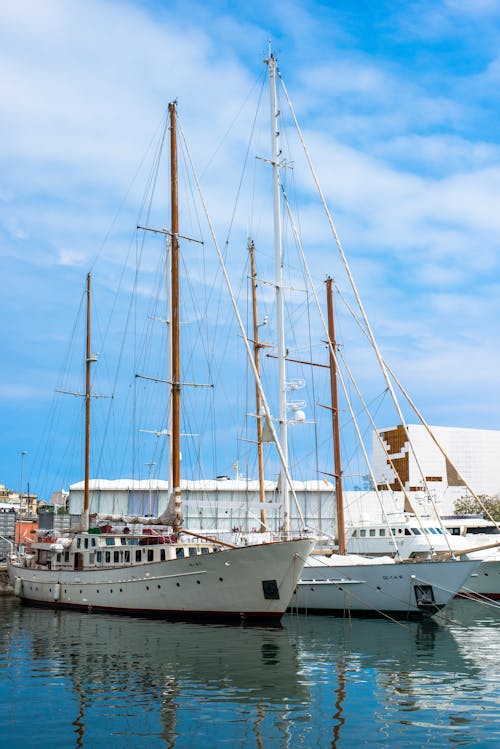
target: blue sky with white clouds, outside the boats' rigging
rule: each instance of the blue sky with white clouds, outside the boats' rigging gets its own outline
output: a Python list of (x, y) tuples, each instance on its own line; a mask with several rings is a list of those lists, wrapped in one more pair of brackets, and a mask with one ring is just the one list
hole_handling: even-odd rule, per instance
[(19, 486), (27, 451), (37, 491), (85, 275), (111, 298), (135, 175), (175, 97), (227, 231), (241, 142), (223, 135), (269, 37), (387, 359), (430, 423), (499, 427), (497, 2), (1, 0), (0, 14), (0, 482)]

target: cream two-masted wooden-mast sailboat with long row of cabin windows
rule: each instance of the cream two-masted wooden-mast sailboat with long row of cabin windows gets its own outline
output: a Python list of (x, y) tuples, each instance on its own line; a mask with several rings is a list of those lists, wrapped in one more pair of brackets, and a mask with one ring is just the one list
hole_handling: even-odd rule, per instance
[(180, 471), (179, 225), (176, 104), (169, 105), (171, 230), (171, 501), (149, 528), (90, 527), (90, 274), (87, 276), (85, 487), (80, 527), (43, 535), (13, 551), (8, 574), (26, 603), (162, 617), (279, 621), (313, 542), (309, 538), (236, 547), (183, 528)]

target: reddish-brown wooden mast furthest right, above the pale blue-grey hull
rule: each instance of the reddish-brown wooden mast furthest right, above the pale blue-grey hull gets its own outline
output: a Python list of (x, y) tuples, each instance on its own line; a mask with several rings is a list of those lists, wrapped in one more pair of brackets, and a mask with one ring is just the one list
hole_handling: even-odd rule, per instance
[(333, 431), (333, 463), (335, 472), (335, 500), (337, 508), (337, 537), (339, 542), (339, 554), (346, 554), (345, 523), (344, 523), (344, 495), (342, 490), (342, 457), (340, 453), (340, 424), (339, 424), (339, 396), (337, 386), (337, 362), (334, 352), (337, 351), (335, 341), (335, 323), (333, 314), (333, 290), (332, 279), (326, 279), (326, 304), (328, 310), (328, 338), (329, 338), (329, 361), (330, 361), (330, 394), (332, 405), (332, 431)]

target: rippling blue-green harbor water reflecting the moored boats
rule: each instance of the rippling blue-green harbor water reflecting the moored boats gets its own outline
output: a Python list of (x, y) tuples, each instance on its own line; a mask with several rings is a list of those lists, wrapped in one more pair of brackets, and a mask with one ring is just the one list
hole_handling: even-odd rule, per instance
[(262, 628), (2, 597), (0, 746), (499, 747), (498, 611)]

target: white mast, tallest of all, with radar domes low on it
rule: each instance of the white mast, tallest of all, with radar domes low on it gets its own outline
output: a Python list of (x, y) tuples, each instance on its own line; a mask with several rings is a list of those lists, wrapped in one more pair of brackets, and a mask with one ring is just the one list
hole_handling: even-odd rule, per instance
[[(270, 52), (266, 60), (269, 70), (269, 90), (271, 101), (271, 164), (273, 170), (273, 207), (274, 207), (274, 259), (276, 284), (276, 325), (278, 332), (278, 417), (279, 440), (283, 460), (288, 468), (288, 428), (286, 403), (286, 346), (285, 346), (285, 304), (283, 298), (283, 246), (281, 240), (281, 196), (280, 196), (280, 158), (279, 144), (279, 110), (276, 101), (276, 58)], [(283, 530), (290, 530), (290, 496), (287, 474), (283, 463), (280, 468), (279, 487), (283, 504)]]

